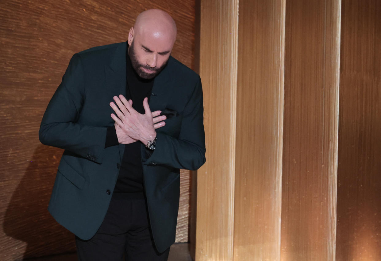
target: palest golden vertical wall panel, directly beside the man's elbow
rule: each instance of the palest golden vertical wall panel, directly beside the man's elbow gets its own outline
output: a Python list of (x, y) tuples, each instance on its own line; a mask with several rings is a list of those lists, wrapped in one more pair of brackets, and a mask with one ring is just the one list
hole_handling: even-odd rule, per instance
[(197, 172), (196, 260), (232, 260), (238, 0), (200, 3), (207, 161)]

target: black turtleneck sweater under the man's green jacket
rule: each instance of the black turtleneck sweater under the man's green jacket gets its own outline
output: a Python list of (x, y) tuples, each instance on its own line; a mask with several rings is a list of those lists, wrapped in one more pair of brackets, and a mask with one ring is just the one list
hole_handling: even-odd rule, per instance
[[(128, 43), (126, 51), (126, 99), (132, 100), (132, 107), (144, 114), (143, 100), (150, 98), (154, 79), (143, 79), (138, 76), (132, 67), (128, 55)], [(105, 147), (118, 145), (115, 127), (107, 128)], [(140, 141), (126, 144), (120, 165), (119, 176), (115, 185), (114, 193), (136, 193), (143, 191), (143, 169), (141, 165)]]

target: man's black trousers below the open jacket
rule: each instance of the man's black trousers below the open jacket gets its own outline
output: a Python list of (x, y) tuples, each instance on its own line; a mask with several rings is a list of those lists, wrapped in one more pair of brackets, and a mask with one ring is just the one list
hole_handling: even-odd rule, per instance
[(169, 254), (155, 248), (143, 193), (114, 193), (94, 237), (75, 244), (80, 261), (166, 261)]

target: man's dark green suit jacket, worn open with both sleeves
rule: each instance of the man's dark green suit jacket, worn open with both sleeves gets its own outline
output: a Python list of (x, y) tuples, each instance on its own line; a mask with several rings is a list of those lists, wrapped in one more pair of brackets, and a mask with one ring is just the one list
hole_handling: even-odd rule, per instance
[[(126, 92), (126, 43), (94, 47), (75, 54), (43, 116), (39, 137), (64, 149), (49, 203), (51, 215), (81, 239), (94, 236), (106, 215), (118, 177), (124, 145), (104, 148), (114, 125), (109, 106)], [(176, 117), (157, 129), (149, 155), (141, 149), (144, 187), (155, 245), (173, 244), (179, 207), (179, 169), (205, 162), (200, 77), (170, 57), (156, 76), (151, 111), (172, 109)]]

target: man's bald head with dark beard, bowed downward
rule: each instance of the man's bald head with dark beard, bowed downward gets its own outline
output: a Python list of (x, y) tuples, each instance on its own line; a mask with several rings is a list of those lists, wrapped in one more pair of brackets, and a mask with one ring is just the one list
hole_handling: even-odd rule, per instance
[(168, 61), (176, 41), (176, 23), (163, 10), (139, 14), (128, 33), (128, 52), (135, 71), (142, 78), (155, 77)]

